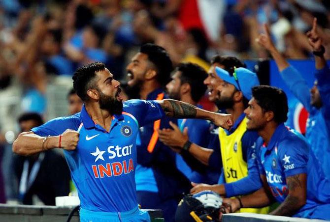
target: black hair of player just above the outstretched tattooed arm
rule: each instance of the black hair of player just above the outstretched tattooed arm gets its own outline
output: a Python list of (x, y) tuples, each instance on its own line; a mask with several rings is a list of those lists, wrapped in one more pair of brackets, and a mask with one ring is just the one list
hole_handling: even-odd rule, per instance
[(199, 65), (191, 62), (180, 63), (175, 68), (175, 71), (181, 72), (181, 84), (188, 83), (190, 85), (192, 99), (198, 102), (207, 89), (207, 86), (203, 83), (207, 77), (206, 71)]

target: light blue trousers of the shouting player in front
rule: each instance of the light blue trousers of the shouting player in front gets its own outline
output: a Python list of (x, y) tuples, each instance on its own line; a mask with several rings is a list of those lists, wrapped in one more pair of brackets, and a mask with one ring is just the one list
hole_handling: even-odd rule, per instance
[(130, 211), (116, 213), (90, 211), (80, 208), (79, 216), (80, 222), (150, 222), (148, 212), (138, 209), (137, 206)]

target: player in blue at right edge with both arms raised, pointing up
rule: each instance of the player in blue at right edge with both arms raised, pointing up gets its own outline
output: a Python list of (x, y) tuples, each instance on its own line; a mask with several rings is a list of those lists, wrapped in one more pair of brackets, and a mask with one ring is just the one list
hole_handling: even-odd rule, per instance
[(326, 176), (330, 178), (330, 69), (323, 55), (325, 51), (317, 31), (317, 20), (314, 19), (313, 28), (307, 33), (315, 55), (316, 68), (316, 81), (311, 89), (300, 73), (275, 48), (268, 27), (264, 28), (265, 33), (259, 36), (258, 42), (273, 56), (283, 81), (309, 112), (305, 136)]

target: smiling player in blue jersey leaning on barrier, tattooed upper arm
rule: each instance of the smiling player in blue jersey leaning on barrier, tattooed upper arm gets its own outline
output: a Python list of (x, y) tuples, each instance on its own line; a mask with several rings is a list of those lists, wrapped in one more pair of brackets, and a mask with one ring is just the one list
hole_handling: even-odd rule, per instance
[(260, 135), (256, 148), (263, 187), (224, 202), (234, 212), (277, 201), (280, 205), (272, 215), (330, 220), (330, 183), (308, 142), (284, 125), (288, 118), (286, 94), (282, 89), (261, 85), (252, 88), (252, 95), (244, 112), (247, 129)]

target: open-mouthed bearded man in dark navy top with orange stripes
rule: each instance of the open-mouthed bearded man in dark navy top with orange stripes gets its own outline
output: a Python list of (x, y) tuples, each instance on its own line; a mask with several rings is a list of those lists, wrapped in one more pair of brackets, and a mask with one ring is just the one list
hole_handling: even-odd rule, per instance
[[(140, 99), (162, 100), (172, 62), (164, 48), (145, 44), (127, 66), (130, 86), (138, 86)], [(159, 141), (157, 129), (169, 128), (164, 117), (139, 130), (136, 142), (137, 166), (135, 182), (137, 201), (142, 208), (162, 209), (166, 221), (174, 214), (182, 194), (189, 191), (190, 182), (176, 167), (176, 153)]]

